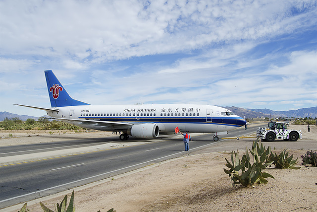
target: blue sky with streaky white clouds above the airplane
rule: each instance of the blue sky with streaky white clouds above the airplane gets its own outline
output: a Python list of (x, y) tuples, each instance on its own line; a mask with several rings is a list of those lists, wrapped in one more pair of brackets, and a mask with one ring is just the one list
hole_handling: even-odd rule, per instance
[(90, 104), (317, 106), (317, 0), (1, 0), (0, 111)]

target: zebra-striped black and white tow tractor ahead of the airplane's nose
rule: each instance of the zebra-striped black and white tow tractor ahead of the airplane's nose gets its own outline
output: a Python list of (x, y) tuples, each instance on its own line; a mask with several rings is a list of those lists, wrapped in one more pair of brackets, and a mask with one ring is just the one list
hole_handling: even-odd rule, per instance
[(283, 139), (284, 141), (297, 141), (302, 139), (301, 130), (287, 130), (284, 122), (269, 122), (267, 128), (259, 128), (257, 137), (262, 141), (274, 141), (275, 139)]

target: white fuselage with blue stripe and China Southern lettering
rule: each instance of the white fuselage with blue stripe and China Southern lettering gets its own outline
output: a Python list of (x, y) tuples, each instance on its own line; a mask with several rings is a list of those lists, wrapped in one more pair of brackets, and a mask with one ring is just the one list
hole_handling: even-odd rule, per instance
[[(231, 111), (211, 105), (196, 104), (142, 104), (142, 105), (82, 105), (54, 108), (49, 111), (55, 118), (129, 123), (132, 125), (155, 123), (159, 132), (172, 133), (176, 127), (191, 133), (216, 133), (236, 129), (246, 121)], [(67, 121), (65, 121), (67, 122)], [(71, 122), (84, 128), (115, 131), (122, 127)]]

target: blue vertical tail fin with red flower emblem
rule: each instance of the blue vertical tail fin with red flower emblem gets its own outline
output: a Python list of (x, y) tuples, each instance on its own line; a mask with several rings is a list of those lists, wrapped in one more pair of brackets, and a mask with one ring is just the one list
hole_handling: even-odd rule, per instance
[(63, 85), (58, 81), (53, 71), (49, 70), (44, 72), (52, 107), (90, 105), (85, 102), (72, 99)]

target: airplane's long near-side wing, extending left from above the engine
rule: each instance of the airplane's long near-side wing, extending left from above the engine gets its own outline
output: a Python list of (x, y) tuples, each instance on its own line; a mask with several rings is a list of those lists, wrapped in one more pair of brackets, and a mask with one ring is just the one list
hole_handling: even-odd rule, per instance
[(49, 118), (56, 119), (60, 121), (68, 121), (68, 122), (77, 122), (79, 125), (97, 125), (101, 127), (109, 128), (109, 129), (128, 129), (133, 126), (130, 123), (124, 122), (108, 122), (108, 121), (98, 121), (98, 120), (86, 120), (86, 119), (67, 119), (67, 118)]

